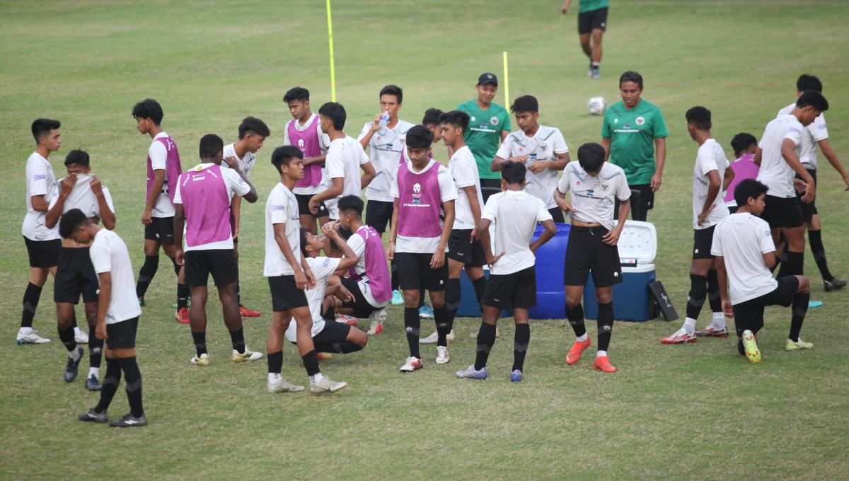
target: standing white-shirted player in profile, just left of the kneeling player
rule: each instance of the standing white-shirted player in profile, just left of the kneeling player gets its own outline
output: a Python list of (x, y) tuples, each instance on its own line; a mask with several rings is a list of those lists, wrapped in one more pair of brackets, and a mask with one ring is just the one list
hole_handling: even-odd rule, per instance
[[(678, 331), (661, 339), (661, 344), (694, 343), (696, 336), (728, 337), (711, 241), (714, 227), (728, 217), (722, 191), (734, 178), (734, 171), (728, 168), (722, 147), (711, 135), (711, 111), (693, 107), (687, 110), (685, 117), (690, 138), (699, 144), (693, 169), (693, 262), (690, 264), (687, 317)], [(705, 299), (710, 303), (713, 321), (696, 333), (695, 323)]]

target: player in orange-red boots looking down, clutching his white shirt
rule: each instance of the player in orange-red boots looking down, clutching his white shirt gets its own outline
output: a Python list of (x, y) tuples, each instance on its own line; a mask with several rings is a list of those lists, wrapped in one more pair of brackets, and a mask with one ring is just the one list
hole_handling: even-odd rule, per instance
[[(585, 143), (578, 148), (578, 161), (566, 165), (554, 199), (560, 209), (572, 213), (563, 283), (566, 318), (576, 339), (566, 354), (566, 364), (575, 364), (592, 344), (581, 306), (583, 288), (592, 271), (595, 300), (599, 304), (599, 350), (594, 366), (603, 372), (616, 372), (607, 349), (613, 332), (613, 285), (622, 282), (616, 243), (631, 207), (631, 190), (625, 172), (620, 166), (605, 162), (604, 154), (604, 148), (598, 143)], [(566, 193), (571, 193), (571, 202), (565, 199)], [(613, 218), (614, 199), (619, 201), (618, 221)]]

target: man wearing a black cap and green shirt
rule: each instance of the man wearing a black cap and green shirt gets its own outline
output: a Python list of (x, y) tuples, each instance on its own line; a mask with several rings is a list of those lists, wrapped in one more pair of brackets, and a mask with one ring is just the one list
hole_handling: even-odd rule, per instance
[(501, 176), (490, 168), (498, 146), (510, 132), (510, 115), (498, 103), (492, 102), (498, 93), (498, 77), (485, 72), (475, 85), (477, 97), (457, 106), (469, 115), (469, 130), (465, 133), (466, 145), (475, 155), (481, 175), (481, 197), (486, 199), (501, 188)]

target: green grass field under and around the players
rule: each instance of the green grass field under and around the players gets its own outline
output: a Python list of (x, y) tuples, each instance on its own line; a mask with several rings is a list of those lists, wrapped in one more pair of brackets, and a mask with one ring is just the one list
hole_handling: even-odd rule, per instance
[[(670, 129), (663, 187), (649, 214), (659, 238), (658, 278), (683, 313), (692, 243), (690, 191), (695, 144), (683, 113), (713, 111), (726, 148), (739, 131), (763, 126), (794, 98), (796, 76), (820, 76), (832, 109), (831, 143), (849, 161), (849, 74), (845, 5), (828, 0), (653, 0), (613, 3), (604, 36), (602, 81), (586, 77), (575, 14), (559, 25), (559, 2), (507, 0), (399, 3), (337, 1), (334, 6), (337, 99), (356, 135), (377, 111), (386, 83), (405, 91), (402, 118), (452, 109), (471, 98), (481, 72), (500, 75), (510, 55), (512, 97), (539, 98), (541, 121), (558, 126), (574, 150), (599, 140), (600, 120), (586, 100), (618, 98), (616, 78), (638, 70), (644, 98), (659, 105)], [(574, 8), (576, 10), (576, 8)], [(188, 364), (188, 327), (173, 319), (173, 277), (165, 260), (147, 296), (138, 333), (150, 425), (114, 430), (76, 421), (96, 404), (82, 378), (65, 384), (65, 350), (55, 332), (52, 281), (37, 330), (53, 342), (19, 347), (14, 333), (29, 275), (20, 222), (31, 121), (62, 120), (61, 159), (72, 148), (92, 156), (93, 172), (115, 198), (116, 232), (141, 266), (139, 217), (149, 137), (138, 135), (132, 104), (153, 97), (163, 126), (194, 165), (201, 135), (236, 137), (245, 115), (271, 126), (252, 180), (260, 203), (245, 210), (240, 269), (245, 304), (263, 316), (245, 321), (251, 348), (263, 350), (270, 322), (263, 259), (262, 207), (276, 182), (268, 159), (290, 119), (281, 101), (295, 85), (329, 100), (323, 2), (55, 1), (0, 3), (0, 478), (842, 478), (849, 468), (849, 369), (845, 329), (849, 293), (823, 292), (811, 255), (812, 299), (803, 337), (816, 348), (782, 349), (786, 310), (767, 310), (764, 361), (750, 365), (731, 340), (661, 346), (678, 322), (620, 322), (610, 347), (620, 369), (595, 372), (589, 360), (565, 366), (571, 329), (562, 320), (532, 322), (526, 382), (509, 383), (513, 328), (491, 358), (491, 378), (453, 378), (473, 361), (460, 319), (453, 361), (402, 376), (402, 312), (391, 308), (385, 333), (361, 353), (336, 355), (323, 372), (350, 388), (333, 396), (269, 395), (266, 365), (233, 365), (229, 340), (211, 313), (212, 364)], [(503, 103), (499, 93), (498, 103)], [(436, 150), (438, 159), (444, 151)], [(822, 159), (822, 158), (821, 158)], [(818, 207), (832, 271), (849, 270), (843, 184), (822, 159)], [(164, 258), (163, 258), (164, 259)], [(702, 315), (701, 327), (706, 321)], [(427, 322), (423, 322), (427, 326)], [(594, 322), (588, 322), (594, 336)], [(423, 332), (430, 332), (423, 327)], [(83, 361), (81, 369), (87, 367)], [(284, 377), (306, 381), (294, 347)], [(126, 410), (123, 389), (112, 417)]]

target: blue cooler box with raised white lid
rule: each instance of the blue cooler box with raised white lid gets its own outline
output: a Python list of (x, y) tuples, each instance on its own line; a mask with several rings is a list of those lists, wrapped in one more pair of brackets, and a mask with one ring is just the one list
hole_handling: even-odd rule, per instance
[[(613, 316), (616, 320), (644, 322), (655, 317), (654, 300), (649, 282), (655, 282), (657, 232), (649, 222), (625, 221), (618, 243), (622, 264), (622, 282), (613, 286)], [(599, 305), (595, 302), (595, 285), (590, 273), (583, 293), (584, 316), (597, 319)]]

